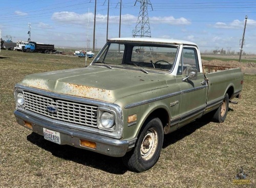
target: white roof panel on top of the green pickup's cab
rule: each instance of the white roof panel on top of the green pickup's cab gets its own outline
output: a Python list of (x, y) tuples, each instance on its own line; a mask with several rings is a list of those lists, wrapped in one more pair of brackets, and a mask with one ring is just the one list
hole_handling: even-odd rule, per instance
[(188, 45), (195, 45), (196, 43), (186, 41), (186, 40), (177, 40), (177, 39), (166, 39), (166, 38), (135, 38), (135, 37), (127, 37), (127, 38), (111, 38), (108, 41), (113, 42), (152, 42), (152, 43), (164, 43), (164, 44), (188, 44)]

